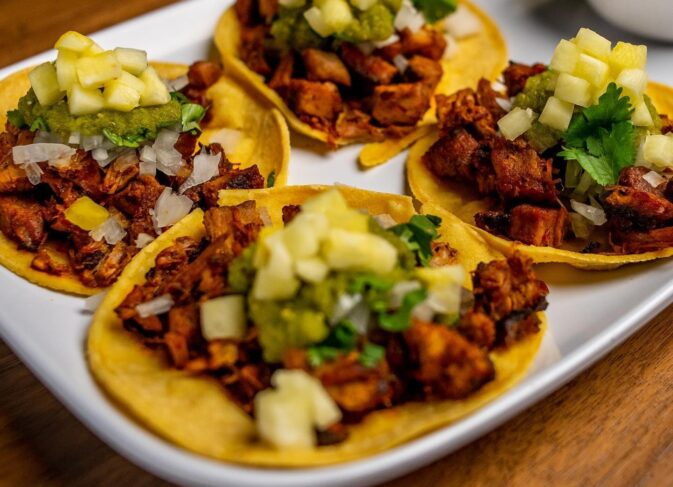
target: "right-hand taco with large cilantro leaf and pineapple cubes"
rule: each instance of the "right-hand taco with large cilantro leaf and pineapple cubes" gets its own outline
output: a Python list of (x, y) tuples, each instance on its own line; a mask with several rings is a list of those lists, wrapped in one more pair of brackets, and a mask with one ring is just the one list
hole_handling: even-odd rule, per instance
[(511, 64), (437, 97), (412, 149), (413, 194), (502, 252), (610, 269), (673, 255), (673, 91), (649, 83), (647, 47), (588, 29), (551, 65)]

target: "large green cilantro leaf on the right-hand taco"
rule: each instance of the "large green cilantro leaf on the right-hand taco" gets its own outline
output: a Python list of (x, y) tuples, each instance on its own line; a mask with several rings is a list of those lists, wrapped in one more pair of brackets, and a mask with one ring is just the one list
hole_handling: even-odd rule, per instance
[(577, 161), (598, 184), (615, 184), (619, 173), (636, 159), (636, 129), (633, 109), (622, 88), (610, 83), (598, 104), (576, 115), (564, 136), (563, 151), (569, 161)]

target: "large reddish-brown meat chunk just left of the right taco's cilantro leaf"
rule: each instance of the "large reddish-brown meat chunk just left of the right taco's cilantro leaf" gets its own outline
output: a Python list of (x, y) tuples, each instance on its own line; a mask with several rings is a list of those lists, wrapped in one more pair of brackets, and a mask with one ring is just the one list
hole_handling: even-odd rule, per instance
[(505, 202), (531, 201), (557, 205), (551, 159), (542, 159), (523, 141), (495, 139), (491, 160), (496, 189)]

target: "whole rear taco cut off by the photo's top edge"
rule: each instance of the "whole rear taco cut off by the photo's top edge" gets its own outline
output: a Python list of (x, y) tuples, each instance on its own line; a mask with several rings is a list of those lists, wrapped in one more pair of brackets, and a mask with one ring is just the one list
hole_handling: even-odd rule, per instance
[(215, 43), (225, 69), (295, 131), (332, 147), (371, 142), (364, 166), (427, 134), (435, 92), (495, 78), (507, 63), (498, 27), (468, 0), (240, 0)]

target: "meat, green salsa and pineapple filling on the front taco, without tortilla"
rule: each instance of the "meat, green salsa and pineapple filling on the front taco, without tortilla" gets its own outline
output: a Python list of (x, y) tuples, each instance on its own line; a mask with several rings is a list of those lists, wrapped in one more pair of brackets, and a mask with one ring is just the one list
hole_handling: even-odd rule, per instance
[(254, 201), (208, 209), (203, 239), (165, 247), (116, 308), (164, 367), (215, 379), (262, 444), (337, 444), (373, 411), (469, 398), (497, 379), (491, 352), (540, 331), (531, 261), (482, 263), (468, 291), (436, 217), (371, 217), (331, 190), (266, 220)]

